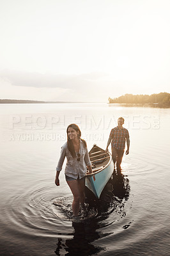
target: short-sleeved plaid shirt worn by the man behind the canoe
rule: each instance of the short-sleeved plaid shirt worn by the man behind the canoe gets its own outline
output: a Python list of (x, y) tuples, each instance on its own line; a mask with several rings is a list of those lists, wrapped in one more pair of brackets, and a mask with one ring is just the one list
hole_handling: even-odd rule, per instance
[(125, 150), (126, 139), (129, 138), (128, 130), (122, 128), (118, 129), (118, 126), (111, 130), (109, 135), (112, 138), (112, 147), (120, 150)]

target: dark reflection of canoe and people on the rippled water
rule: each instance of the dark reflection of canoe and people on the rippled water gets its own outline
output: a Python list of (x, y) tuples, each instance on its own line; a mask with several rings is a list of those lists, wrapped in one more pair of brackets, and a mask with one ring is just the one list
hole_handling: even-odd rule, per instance
[[(99, 228), (105, 227), (104, 220), (109, 215), (116, 211), (117, 214), (123, 213), (125, 216), (124, 206), (128, 200), (130, 193), (129, 180), (124, 175), (118, 175), (116, 172), (112, 173), (112, 177), (107, 182), (100, 199), (98, 200), (88, 188), (86, 188), (86, 211), (84, 212), (84, 220), (80, 223), (72, 222), (73, 238), (63, 239), (58, 238), (56, 255), (82, 255), (88, 256), (106, 250), (100, 246), (91, 244), (93, 241), (109, 236), (112, 233), (105, 233), (99, 231)], [(93, 212), (93, 214), (91, 214)], [(94, 214), (95, 212), (95, 214)], [(113, 220), (112, 222), (114, 222)], [(110, 224), (106, 224), (111, 225)], [(101, 229), (100, 229), (101, 230)], [(64, 254), (66, 253), (66, 254)]]

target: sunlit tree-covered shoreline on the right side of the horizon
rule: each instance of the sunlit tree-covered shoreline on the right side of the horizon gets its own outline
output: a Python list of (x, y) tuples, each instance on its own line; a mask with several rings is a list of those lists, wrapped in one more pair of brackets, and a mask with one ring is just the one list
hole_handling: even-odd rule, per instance
[(170, 105), (170, 93), (160, 92), (151, 95), (133, 95), (125, 94), (118, 98), (111, 99), (109, 97), (109, 103), (125, 103), (125, 104), (167, 104)]

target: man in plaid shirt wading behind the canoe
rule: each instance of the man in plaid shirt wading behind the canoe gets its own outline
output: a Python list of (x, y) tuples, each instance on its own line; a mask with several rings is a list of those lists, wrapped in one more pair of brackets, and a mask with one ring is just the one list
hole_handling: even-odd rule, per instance
[(105, 149), (108, 151), (108, 147), (112, 141), (112, 161), (114, 162), (114, 170), (116, 163), (116, 169), (118, 173), (121, 173), (120, 164), (125, 150), (125, 142), (127, 141), (127, 151), (125, 153), (126, 155), (129, 153), (130, 146), (128, 130), (123, 127), (124, 121), (125, 120), (123, 117), (118, 118), (118, 126), (111, 130), (109, 140), (107, 141), (107, 147)]

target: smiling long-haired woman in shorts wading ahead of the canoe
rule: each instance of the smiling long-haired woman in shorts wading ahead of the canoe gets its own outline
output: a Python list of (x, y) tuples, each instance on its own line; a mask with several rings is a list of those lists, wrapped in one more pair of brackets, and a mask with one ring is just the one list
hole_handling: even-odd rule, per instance
[(68, 186), (73, 194), (73, 216), (79, 214), (80, 205), (84, 206), (84, 188), (86, 166), (89, 173), (92, 173), (86, 141), (81, 139), (81, 130), (76, 124), (68, 125), (66, 129), (67, 142), (61, 147), (61, 156), (56, 168), (56, 186), (59, 186), (59, 173), (62, 169), (65, 157), (67, 159), (65, 177)]

